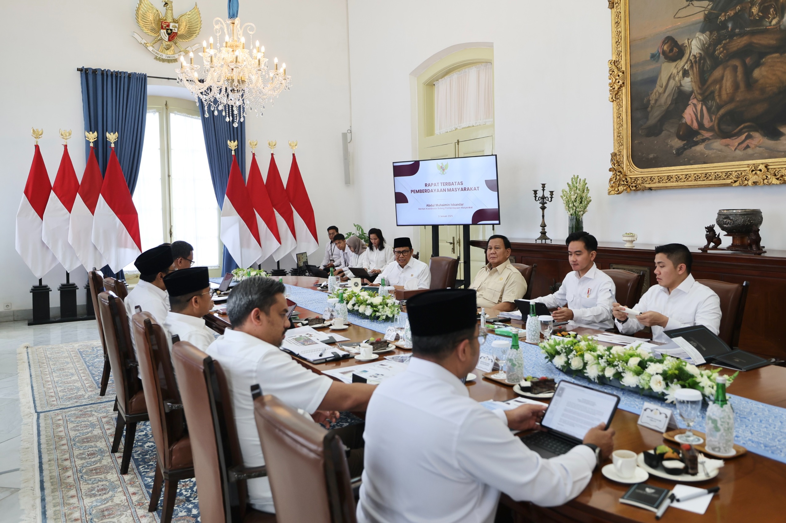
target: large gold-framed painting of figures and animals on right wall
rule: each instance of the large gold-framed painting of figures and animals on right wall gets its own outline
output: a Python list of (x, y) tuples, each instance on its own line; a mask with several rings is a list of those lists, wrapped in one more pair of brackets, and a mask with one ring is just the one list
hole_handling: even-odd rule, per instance
[(786, 183), (786, 0), (608, 7), (608, 194)]

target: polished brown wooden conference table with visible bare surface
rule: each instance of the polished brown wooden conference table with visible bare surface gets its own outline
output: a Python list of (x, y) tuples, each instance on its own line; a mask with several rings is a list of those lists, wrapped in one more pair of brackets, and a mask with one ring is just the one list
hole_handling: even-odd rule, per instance
[[(297, 287), (314, 287), (314, 283), (324, 281), (314, 276), (286, 276), (284, 283)], [(319, 316), (318, 313), (297, 307), (301, 318)], [(211, 313), (205, 316), (208, 326), (222, 332), (230, 327), (227, 316)], [(512, 324), (520, 325), (516, 320)], [(592, 329), (581, 329), (580, 334), (591, 334)], [(380, 337), (380, 333), (364, 327), (351, 325), (343, 336), (358, 342), (370, 337)], [(395, 353), (409, 353), (408, 350), (395, 349)], [(387, 354), (386, 354), (387, 355)], [(329, 369), (351, 367), (368, 362), (358, 362), (354, 358), (326, 364), (311, 364), (306, 360), (294, 358), (299, 364), (321, 373)], [(381, 357), (380, 357), (381, 359)], [(378, 360), (377, 360), (378, 361)], [(727, 373), (726, 369), (723, 371)], [(730, 374), (731, 371), (728, 371)], [(516, 397), (511, 387), (506, 387), (489, 379), (481, 378), (468, 382), (469, 395), (475, 400), (505, 401)], [(762, 403), (786, 408), (786, 368), (765, 367), (754, 371), (740, 372), (729, 393)], [(548, 401), (548, 400), (546, 400)], [(628, 449), (642, 452), (663, 443), (663, 437), (655, 430), (637, 424), (638, 416), (629, 411), (617, 410), (612, 422), (616, 431), (615, 449)], [(605, 463), (611, 463), (606, 460)], [(605, 464), (604, 463), (604, 464)], [(674, 481), (663, 481), (650, 476), (649, 484), (663, 488), (673, 488)], [(783, 503), (783, 492), (786, 488), (786, 464), (766, 458), (762, 455), (747, 452), (736, 459), (726, 460), (718, 477), (697, 484), (700, 488), (720, 485), (721, 490), (714, 496), (703, 515), (686, 510), (670, 508), (660, 521), (669, 523), (695, 521), (786, 521), (786, 507)], [(655, 521), (655, 514), (637, 507), (619, 503), (620, 496), (629, 488), (628, 485), (615, 483), (606, 479), (600, 470), (596, 470), (592, 480), (584, 491), (571, 502), (561, 507), (543, 508), (531, 503), (518, 503), (502, 496), (502, 503), (511, 507), (520, 521)]]

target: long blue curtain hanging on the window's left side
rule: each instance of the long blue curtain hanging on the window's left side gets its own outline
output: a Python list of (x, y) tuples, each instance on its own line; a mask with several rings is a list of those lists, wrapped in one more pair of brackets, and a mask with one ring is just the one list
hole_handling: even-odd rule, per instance
[[(86, 131), (97, 131), (95, 153), (101, 172), (106, 171), (111, 144), (106, 133), (118, 133), (115, 154), (123, 169), (131, 194), (137, 185), (142, 144), (145, 141), (147, 115), (147, 75), (108, 69), (82, 68), (82, 109)], [(85, 158), (90, 144), (85, 141)], [(105, 276), (123, 279), (123, 271), (115, 274), (105, 266)]]

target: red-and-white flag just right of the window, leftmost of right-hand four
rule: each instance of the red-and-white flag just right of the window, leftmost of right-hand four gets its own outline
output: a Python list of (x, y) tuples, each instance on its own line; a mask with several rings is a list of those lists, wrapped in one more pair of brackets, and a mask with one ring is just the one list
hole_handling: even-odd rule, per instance
[(230, 251), (237, 265), (248, 269), (262, 256), (259, 228), (248, 188), (243, 181), (237, 156), (232, 155), (230, 180), (226, 184), (224, 206), (221, 209), (221, 241)]

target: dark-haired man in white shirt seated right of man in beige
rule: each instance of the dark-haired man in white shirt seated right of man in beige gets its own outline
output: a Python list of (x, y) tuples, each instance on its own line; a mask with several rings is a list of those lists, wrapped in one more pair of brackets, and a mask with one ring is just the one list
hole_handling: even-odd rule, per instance
[(551, 313), (554, 321), (571, 321), (601, 330), (611, 328), (616, 287), (611, 276), (595, 265), (595, 236), (584, 231), (571, 232), (565, 244), (567, 261), (573, 270), (567, 273), (558, 291), (532, 301), (545, 303), (549, 309), (559, 307)]

